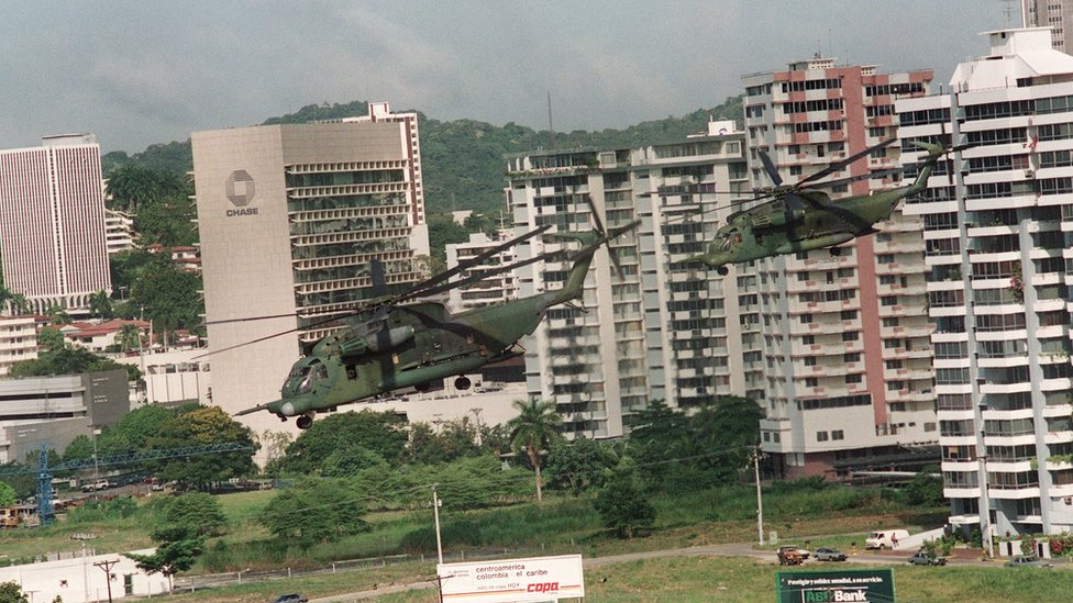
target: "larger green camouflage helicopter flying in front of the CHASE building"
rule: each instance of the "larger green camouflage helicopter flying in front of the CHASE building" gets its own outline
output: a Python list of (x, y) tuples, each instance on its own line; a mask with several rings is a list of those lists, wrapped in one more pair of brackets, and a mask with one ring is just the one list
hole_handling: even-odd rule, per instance
[[(593, 215), (597, 222), (594, 231), (544, 235), (545, 241), (579, 243), (582, 247), (573, 253), (543, 254), (484, 271), (471, 279), (447, 282), (455, 273), (484, 261), (493, 253), (543, 233), (547, 228), (545, 226), (480, 254), (465, 266), (438, 275), (406, 293), (365, 304), (349, 314), (358, 319), (356, 323), (319, 339), (305, 357), (295, 362), (280, 390), (279, 400), (235, 415), (264, 410), (283, 421), (297, 416), (298, 427), (307, 429), (312, 425), (317, 411), (334, 410), (342, 404), (392, 390), (412, 387), (421, 391), (428, 389), (432, 381), (456, 376), (455, 387), (468, 389), (471, 381), (465, 373), (521, 354), (517, 342), (536, 328), (549, 308), (582, 295), (582, 287), (597, 249), (640, 224), (640, 221), (634, 221), (605, 232), (595, 212)], [(417, 297), (441, 293), (521, 265), (562, 257), (564, 254), (573, 266), (563, 288), (555, 291), (454, 315), (439, 302), (400, 305)], [(338, 321), (339, 317), (329, 320)]]

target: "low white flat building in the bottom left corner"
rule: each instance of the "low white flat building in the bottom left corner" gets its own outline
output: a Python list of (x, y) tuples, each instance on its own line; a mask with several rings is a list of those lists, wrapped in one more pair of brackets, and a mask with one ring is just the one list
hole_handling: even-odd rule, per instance
[[(154, 549), (134, 552), (148, 555)], [(56, 601), (87, 603), (168, 592), (168, 579), (146, 574), (119, 552), (73, 557), (41, 563), (0, 568), (0, 582), (14, 582), (31, 603)], [(111, 591), (109, 591), (111, 589)]]

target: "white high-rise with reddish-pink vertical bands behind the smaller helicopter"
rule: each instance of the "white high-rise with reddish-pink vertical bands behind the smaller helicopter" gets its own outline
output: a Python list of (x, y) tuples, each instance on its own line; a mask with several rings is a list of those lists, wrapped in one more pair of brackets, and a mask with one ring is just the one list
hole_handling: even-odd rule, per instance
[[(771, 187), (764, 149), (785, 185), (896, 135), (896, 99), (928, 92), (930, 70), (880, 74), (814, 57), (742, 78), (753, 185)], [(832, 198), (897, 187), (882, 172), (897, 147), (880, 148), (834, 177)], [(919, 217), (895, 211), (878, 234), (838, 248), (731, 267), (760, 308), (766, 411), (761, 446), (776, 474), (843, 476), (934, 459), (930, 325)]]

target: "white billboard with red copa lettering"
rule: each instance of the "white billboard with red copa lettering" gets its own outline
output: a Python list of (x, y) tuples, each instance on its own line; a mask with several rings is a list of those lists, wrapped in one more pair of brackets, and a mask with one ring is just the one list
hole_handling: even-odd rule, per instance
[(443, 601), (498, 603), (585, 596), (580, 555), (436, 566)]

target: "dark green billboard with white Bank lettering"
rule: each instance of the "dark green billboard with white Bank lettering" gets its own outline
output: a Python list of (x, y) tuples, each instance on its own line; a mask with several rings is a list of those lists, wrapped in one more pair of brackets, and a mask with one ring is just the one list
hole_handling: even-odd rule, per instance
[(778, 603), (895, 601), (894, 574), (889, 569), (779, 571), (775, 574), (775, 583), (778, 588)]

